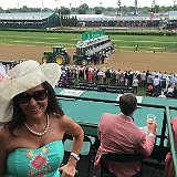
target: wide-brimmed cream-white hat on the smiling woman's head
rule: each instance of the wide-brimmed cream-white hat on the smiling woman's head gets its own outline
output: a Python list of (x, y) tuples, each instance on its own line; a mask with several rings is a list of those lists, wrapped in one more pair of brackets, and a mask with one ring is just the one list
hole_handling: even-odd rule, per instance
[(54, 87), (60, 80), (61, 67), (56, 63), (40, 65), (37, 61), (28, 60), (9, 71), (0, 82), (0, 122), (12, 116), (12, 100), (21, 92), (48, 81)]

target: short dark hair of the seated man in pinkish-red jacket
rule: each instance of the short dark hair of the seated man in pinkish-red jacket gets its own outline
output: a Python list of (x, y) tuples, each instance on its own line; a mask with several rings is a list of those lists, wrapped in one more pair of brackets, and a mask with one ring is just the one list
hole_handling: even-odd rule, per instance
[(136, 96), (132, 93), (125, 93), (119, 97), (119, 108), (125, 115), (131, 115), (134, 113), (137, 106)]

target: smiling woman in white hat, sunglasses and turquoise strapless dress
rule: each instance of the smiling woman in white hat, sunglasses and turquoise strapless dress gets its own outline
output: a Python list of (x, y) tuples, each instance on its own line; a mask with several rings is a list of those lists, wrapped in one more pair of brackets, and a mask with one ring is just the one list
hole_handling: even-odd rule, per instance
[[(0, 118), (7, 122), (0, 127), (0, 177), (74, 176), (84, 133), (55, 100), (60, 75), (56, 63), (40, 66), (25, 61), (0, 83)], [(73, 148), (67, 164), (60, 167), (64, 133), (74, 137)]]

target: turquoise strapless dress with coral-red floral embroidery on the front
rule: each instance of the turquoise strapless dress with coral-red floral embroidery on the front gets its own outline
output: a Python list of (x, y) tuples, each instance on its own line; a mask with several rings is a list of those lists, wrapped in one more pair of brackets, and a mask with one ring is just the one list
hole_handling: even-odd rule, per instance
[(6, 177), (60, 177), (64, 156), (62, 140), (41, 148), (18, 148), (7, 156)]

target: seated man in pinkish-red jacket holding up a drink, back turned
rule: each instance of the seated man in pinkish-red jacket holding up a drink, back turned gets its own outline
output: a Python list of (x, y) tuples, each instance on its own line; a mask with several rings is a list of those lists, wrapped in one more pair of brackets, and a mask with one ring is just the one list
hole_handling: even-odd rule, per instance
[[(137, 110), (137, 100), (134, 94), (126, 93), (119, 97), (121, 113), (117, 115), (104, 113), (98, 124), (98, 147), (94, 166), (96, 169), (101, 165), (101, 156), (106, 152), (129, 153), (138, 152), (148, 157), (154, 148), (156, 137), (156, 122), (146, 122), (148, 136), (134, 124), (133, 114)], [(106, 162), (111, 173), (118, 177), (131, 177), (140, 170), (140, 162), (121, 164)]]

